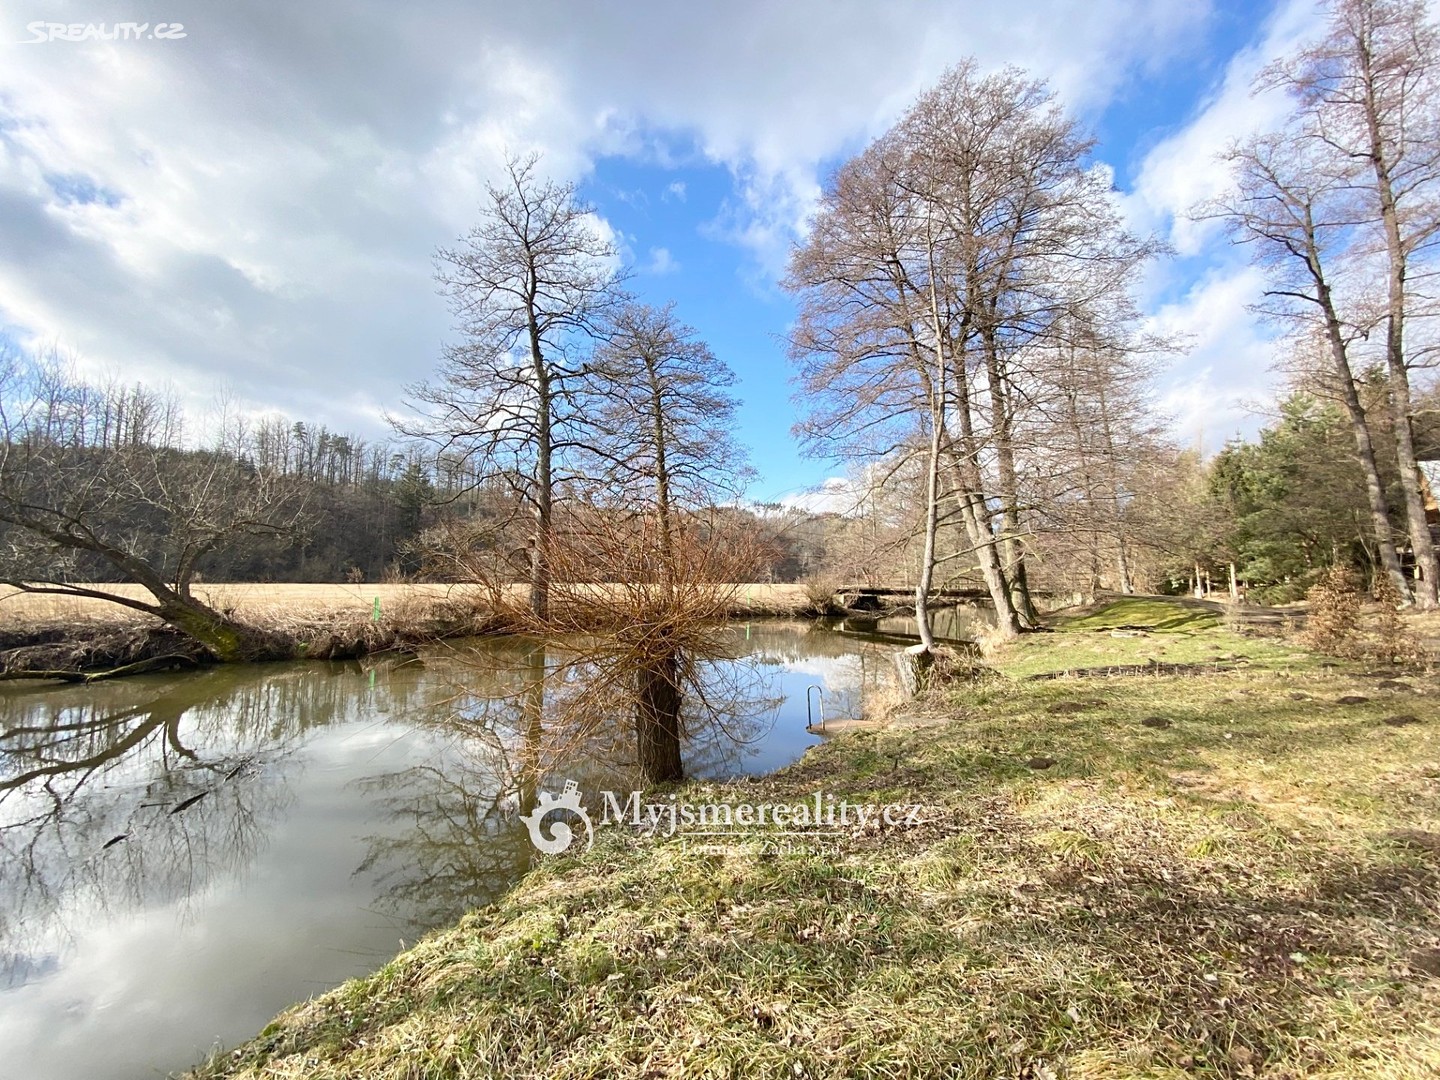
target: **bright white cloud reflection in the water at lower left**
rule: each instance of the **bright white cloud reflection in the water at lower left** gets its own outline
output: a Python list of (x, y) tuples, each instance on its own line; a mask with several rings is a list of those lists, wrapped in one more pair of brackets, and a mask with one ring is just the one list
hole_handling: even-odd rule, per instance
[[(317, 730), (298, 750), (284, 776), (275, 770), (266, 782), (304, 776), (304, 796), (287, 801), (264, 844), (226, 852), (243, 858), (197, 873), (192, 890), (174, 897), (151, 888), (127, 896), (111, 881), (115, 910), (92, 890), (62, 897), (63, 910), (52, 913), (69, 924), (56, 945), (60, 962), (22, 991), (0, 995), (9, 1061), (24, 1066), (17, 1076), (143, 1076), (181, 1067), (200, 1060), (213, 1040), (233, 1043), (295, 999), (373, 971), (395, 953), (409, 930), (356, 894), (353, 874), (366, 841), (354, 835), (361, 819), (354, 780), (442, 759), (444, 750), (392, 724)], [(194, 829), (203, 822), (190, 811), (161, 814), (167, 825), (184, 825), (199, 838)], [(125, 858), (140, 840), (98, 858)], [(27, 923), (22, 948), (46, 949), (59, 922)]]

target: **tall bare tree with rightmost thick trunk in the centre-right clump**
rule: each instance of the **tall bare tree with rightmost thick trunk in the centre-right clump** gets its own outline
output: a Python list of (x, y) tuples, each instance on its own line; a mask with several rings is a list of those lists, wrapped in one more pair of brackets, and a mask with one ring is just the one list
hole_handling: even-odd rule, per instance
[(1077, 312), (1115, 307), (1156, 246), (1122, 228), (1107, 179), (1084, 164), (1090, 140), (1044, 84), (1018, 71), (982, 76), (962, 63), (897, 131), (904, 183), (937, 223), (936, 276), (959, 312), (948, 360), (989, 462), (985, 505), (999, 504), (1004, 573), (1034, 621), (1021, 471), (1027, 449), (1048, 441), (1048, 418), (1035, 423), (1054, 377), (1041, 346), (1057, 343)]

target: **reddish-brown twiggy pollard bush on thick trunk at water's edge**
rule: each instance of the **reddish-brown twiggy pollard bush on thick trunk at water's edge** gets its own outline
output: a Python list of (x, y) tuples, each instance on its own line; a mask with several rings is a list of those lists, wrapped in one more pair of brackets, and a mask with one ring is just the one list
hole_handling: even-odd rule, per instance
[(452, 563), (513, 631), (556, 645), (540, 647), (543, 672), (526, 691), (549, 743), (612, 739), (615, 721), (628, 717), (645, 779), (678, 779), (683, 739), (744, 711), (736, 707), (743, 680), (719, 680), (708, 661), (724, 655), (723, 626), (763, 552), (719, 516), (661, 520), (572, 504), (557, 518), (541, 615), (518, 602), (517, 567), (487, 549), (455, 552)]

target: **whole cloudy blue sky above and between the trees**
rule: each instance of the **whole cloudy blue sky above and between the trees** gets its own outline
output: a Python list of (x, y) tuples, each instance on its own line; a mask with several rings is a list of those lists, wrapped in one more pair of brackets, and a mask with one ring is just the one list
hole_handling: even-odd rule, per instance
[(1172, 246), (1139, 282), (1188, 346), (1156, 405), (1212, 452), (1263, 422), (1273, 331), (1247, 252), (1187, 212), (1283, 112), (1254, 73), (1316, 27), (1315, 0), (0, 0), (0, 336), (196, 413), (383, 436), (452, 340), (435, 251), (536, 151), (737, 373), (749, 497), (816, 505), (842, 465), (791, 438), (789, 248), (973, 56), (1045, 79)]

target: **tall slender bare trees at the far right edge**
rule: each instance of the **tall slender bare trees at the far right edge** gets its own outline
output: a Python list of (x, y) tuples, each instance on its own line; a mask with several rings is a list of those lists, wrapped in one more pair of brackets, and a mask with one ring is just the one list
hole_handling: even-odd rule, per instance
[[(1440, 32), (1421, 3), (1336, 0), (1328, 33), (1272, 65), (1259, 86), (1283, 89), (1293, 108), (1280, 128), (1231, 151), (1234, 192), (1201, 213), (1223, 217), (1254, 246), (1270, 279), (1266, 311), (1325, 357), (1319, 382), (1349, 422), (1372, 550), (1400, 596), (1434, 608), (1440, 567), (1411, 383), (1433, 353), (1426, 320), (1436, 314), (1440, 232)], [(1361, 380), (1377, 370), (1380, 399), (1367, 408)], [(1381, 415), (1397, 459), (1394, 490), (1381, 477)]]

